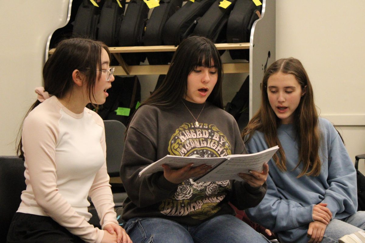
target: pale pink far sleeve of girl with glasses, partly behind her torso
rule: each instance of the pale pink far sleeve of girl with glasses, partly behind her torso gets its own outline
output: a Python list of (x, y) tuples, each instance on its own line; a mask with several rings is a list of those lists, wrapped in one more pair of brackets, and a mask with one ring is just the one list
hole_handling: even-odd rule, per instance
[[(101, 119), (100, 119), (101, 120)], [(101, 228), (107, 224), (118, 224), (116, 213), (114, 211), (113, 194), (109, 184), (109, 175), (107, 172), (106, 163), (106, 144), (105, 144), (105, 129), (103, 121), (99, 121), (99, 125), (103, 127), (103, 135), (101, 137), (101, 147), (104, 153), (104, 164), (96, 173), (95, 179), (89, 191), (89, 196), (96, 208), (97, 215), (100, 219)]]

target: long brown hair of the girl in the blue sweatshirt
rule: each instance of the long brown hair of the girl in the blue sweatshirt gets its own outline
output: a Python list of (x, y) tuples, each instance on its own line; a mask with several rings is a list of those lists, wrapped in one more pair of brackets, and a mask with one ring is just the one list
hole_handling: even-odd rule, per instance
[(256, 130), (264, 133), (266, 143), (269, 147), (279, 146), (279, 156), (277, 154), (273, 156), (277, 167), (281, 171), (287, 170), (285, 153), (277, 137), (277, 127), (280, 125), (280, 119), (270, 106), (267, 91), (269, 77), (277, 72), (293, 74), (299, 82), (301, 89), (306, 91), (301, 97), (297, 109), (294, 111), (293, 125), (299, 136), (299, 161), (295, 168), (300, 164), (303, 165), (303, 169), (298, 177), (304, 175), (318, 176), (321, 169), (321, 162), (318, 155), (320, 145), (318, 112), (314, 104), (311, 82), (299, 60), (295, 58), (279, 59), (272, 63), (265, 71), (262, 80), (260, 109), (243, 130), (242, 137), (245, 143), (247, 143)]

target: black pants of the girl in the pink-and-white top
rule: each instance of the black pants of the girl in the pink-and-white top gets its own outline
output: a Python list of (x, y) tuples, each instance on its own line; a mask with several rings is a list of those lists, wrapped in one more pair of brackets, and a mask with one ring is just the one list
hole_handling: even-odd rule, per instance
[(51, 217), (15, 213), (10, 224), (7, 243), (85, 243)]

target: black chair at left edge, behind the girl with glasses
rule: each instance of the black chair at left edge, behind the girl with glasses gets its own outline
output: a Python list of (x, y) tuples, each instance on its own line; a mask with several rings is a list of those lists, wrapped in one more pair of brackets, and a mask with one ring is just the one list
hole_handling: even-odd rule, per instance
[(6, 242), (12, 217), (26, 189), (24, 161), (18, 156), (0, 156), (0, 242)]

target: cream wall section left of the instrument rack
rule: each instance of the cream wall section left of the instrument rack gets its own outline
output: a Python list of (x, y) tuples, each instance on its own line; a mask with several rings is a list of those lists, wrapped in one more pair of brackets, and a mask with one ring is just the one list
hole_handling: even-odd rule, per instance
[(0, 0), (0, 154), (15, 154), (22, 119), (42, 86), (47, 38), (64, 26), (68, 0)]

